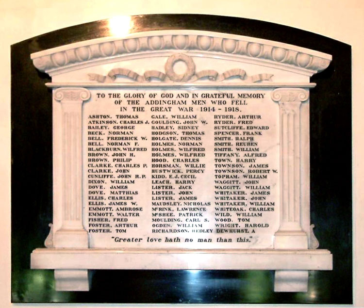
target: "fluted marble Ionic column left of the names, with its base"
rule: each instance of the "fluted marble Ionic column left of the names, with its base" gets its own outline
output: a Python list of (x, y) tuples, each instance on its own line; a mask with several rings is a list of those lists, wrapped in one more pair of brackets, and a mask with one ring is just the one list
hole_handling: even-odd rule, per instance
[(59, 88), (53, 97), (62, 105), (62, 224), (54, 234), (56, 248), (87, 248), (82, 217), (82, 105), (84, 88)]

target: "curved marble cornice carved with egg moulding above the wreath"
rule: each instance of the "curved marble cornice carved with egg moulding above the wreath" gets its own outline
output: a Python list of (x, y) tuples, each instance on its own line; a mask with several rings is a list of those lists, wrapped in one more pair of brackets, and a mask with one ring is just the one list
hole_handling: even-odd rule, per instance
[[(274, 41), (215, 32), (186, 30), (184, 32), (170, 31), (169, 33), (173, 34), (160, 31), (150, 34), (148, 32), (137, 33), (123, 39), (106, 37), (40, 51), (33, 53), (31, 58), (36, 68), (49, 73), (68, 66), (91, 63), (102, 59), (116, 59), (115, 61), (118, 61), (127, 55), (176, 50), (235, 55), (246, 59), (264, 60), (272, 64), (288, 65), (307, 70), (311, 73), (310, 75), (324, 70), (331, 62), (331, 55)], [(208, 33), (209, 35), (195, 33)]]

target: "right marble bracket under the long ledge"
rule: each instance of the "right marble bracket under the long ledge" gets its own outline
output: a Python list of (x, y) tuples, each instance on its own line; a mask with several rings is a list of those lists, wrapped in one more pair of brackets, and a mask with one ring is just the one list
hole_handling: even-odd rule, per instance
[(308, 271), (275, 271), (274, 292), (307, 292)]

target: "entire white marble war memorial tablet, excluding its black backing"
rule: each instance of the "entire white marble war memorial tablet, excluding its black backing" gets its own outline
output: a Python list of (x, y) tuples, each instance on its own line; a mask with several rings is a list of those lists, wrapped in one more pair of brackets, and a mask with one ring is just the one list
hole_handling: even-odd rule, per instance
[(32, 268), (332, 269), (310, 224), (310, 76), (331, 56), (228, 33), (140, 32), (32, 54), (52, 77), (53, 224)]

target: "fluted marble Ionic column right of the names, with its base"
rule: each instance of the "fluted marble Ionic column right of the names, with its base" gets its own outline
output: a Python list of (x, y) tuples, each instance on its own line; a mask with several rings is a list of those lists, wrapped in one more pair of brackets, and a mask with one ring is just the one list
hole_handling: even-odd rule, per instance
[(309, 92), (299, 88), (280, 88), (272, 92), (272, 99), (280, 106), (281, 145), (281, 216), (274, 237), (276, 249), (308, 248), (308, 237), (300, 219), (300, 107), (308, 98)]

